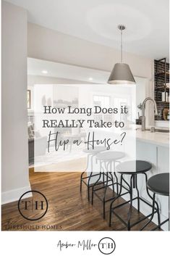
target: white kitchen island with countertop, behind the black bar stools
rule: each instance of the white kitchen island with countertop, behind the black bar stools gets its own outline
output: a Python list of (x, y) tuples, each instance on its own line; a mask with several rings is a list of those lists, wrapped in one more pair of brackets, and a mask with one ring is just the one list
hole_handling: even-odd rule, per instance
[[(150, 133), (150, 131), (137, 130), (136, 136), (137, 160), (145, 160), (153, 165), (152, 170), (147, 172), (148, 178), (158, 173), (169, 172), (169, 133)], [(145, 179), (142, 175), (140, 176), (141, 178), (138, 178), (140, 194), (150, 202), (148, 195), (145, 193)], [(169, 198), (156, 196), (156, 201), (161, 210), (161, 221), (163, 221), (169, 215)], [(147, 215), (150, 210), (150, 207), (146, 207), (144, 204), (140, 207), (140, 212), (144, 215)], [(153, 222), (157, 223), (156, 215)], [(168, 230), (168, 223), (162, 226), (162, 228)]]

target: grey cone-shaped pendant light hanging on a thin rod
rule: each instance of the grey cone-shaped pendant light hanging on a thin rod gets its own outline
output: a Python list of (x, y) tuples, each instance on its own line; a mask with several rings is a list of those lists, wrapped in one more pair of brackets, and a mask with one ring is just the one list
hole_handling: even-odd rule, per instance
[(135, 79), (129, 68), (129, 65), (122, 63), (122, 30), (125, 29), (124, 25), (118, 26), (121, 31), (121, 63), (116, 63), (111, 75), (109, 76), (108, 83), (111, 84), (135, 84)]

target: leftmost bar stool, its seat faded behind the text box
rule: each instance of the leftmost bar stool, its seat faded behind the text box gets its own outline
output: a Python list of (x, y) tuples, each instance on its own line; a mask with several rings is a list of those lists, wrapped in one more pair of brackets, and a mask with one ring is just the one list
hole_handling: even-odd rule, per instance
[[(90, 179), (92, 177), (99, 175), (99, 173), (93, 174), (93, 157), (95, 157), (95, 155), (98, 154), (99, 152), (103, 152), (105, 150), (106, 150), (105, 146), (95, 146), (94, 148), (91, 148), (91, 149), (83, 149), (83, 152), (88, 153), (88, 162), (87, 162), (87, 166), (86, 166), (84, 172), (82, 172), (81, 176), (80, 176), (80, 192), (82, 192), (82, 182), (83, 182), (85, 184), (85, 186), (87, 186), (87, 188), (88, 188), (88, 201), (90, 201), (90, 187), (92, 186), (92, 184), (90, 184)], [(86, 170), (88, 170), (88, 165), (89, 165), (90, 160), (91, 160), (90, 175), (83, 177)], [(88, 179), (88, 182), (85, 182), (85, 180), (87, 180), (87, 179)]]

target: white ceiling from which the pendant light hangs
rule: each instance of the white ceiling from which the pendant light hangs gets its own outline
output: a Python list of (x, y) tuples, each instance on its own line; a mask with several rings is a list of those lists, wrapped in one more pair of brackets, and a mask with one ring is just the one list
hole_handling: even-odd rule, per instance
[(27, 9), (28, 21), (96, 44), (169, 57), (169, 0), (7, 0)]

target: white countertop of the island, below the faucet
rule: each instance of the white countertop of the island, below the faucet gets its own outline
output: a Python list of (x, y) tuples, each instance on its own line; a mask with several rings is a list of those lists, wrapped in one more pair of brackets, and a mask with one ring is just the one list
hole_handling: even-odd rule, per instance
[(137, 141), (154, 144), (157, 146), (169, 146), (169, 133), (150, 133), (150, 131), (136, 131)]

